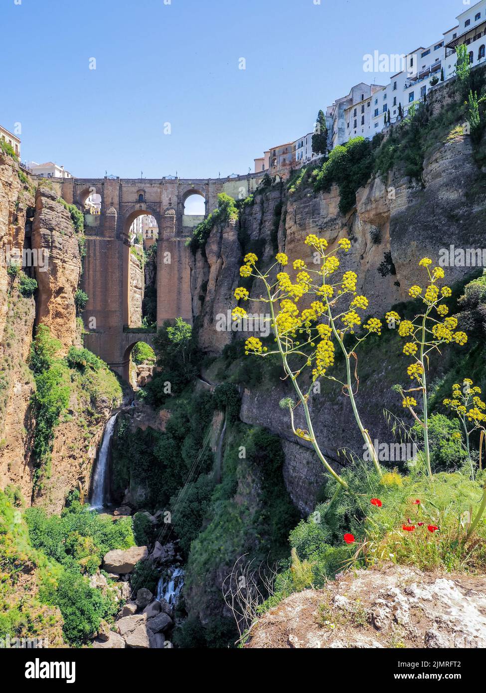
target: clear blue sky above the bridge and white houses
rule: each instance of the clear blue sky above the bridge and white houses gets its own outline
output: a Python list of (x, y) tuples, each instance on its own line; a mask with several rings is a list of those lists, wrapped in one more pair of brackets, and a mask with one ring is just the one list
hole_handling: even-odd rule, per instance
[(352, 85), (387, 82), (363, 72), (365, 53), (427, 46), (465, 9), (462, 0), (0, 0), (0, 123), (21, 123), (22, 159), (78, 177), (247, 173), (265, 149), (310, 132), (318, 109)]

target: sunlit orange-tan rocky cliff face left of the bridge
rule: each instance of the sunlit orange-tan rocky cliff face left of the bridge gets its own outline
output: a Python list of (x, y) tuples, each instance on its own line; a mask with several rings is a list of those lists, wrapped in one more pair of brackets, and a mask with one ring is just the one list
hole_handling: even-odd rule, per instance
[[(84, 385), (80, 378), (73, 379), (69, 411), (55, 432), (49, 484), (37, 488), (33, 497), (35, 383), (26, 362), (40, 323), (60, 340), (60, 356), (73, 344), (80, 345), (74, 294), (81, 258), (71, 216), (57, 201), (57, 193), (41, 187), (34, 197), (31, 184), (21, 182), (18, 170), (11, 157), (0, 157), (0, 488), (12, 484), (27, 503), (60, 511), (71, 489), (87, 495), (105, 421), (121, 399), (121, 389), (105, 370)], [(37, 279), (35, 298), (22, 296), (18, 277), (8, 274), (7, 247), (10, 252), (33, 249), (37, 258), (46, 253), (46, 264), (38, 261), (35, 267), (24, 267)]]

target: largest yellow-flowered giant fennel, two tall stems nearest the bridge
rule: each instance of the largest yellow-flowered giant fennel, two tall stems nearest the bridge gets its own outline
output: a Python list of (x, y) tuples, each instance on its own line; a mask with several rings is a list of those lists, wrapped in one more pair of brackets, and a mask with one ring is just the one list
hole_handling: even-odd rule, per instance
[[(340, 259), (338, 252), (348, 252), (351, 243), (347, 238), (338, 241), (336, 252), (327, 250), (328, 244), (324, 238), (318, 238), (314, 234), (307, 236), (305, 244), (313, 249), (313, 258), (316, 267), (308, 267), (306, 262), (297, 259), (293, 262), (293, 269), (297, 272), (295, 280), (290, 278), (288, 272), (277, 272), (276, 265), (280, 268), (288, 265), (288, 257), (284, 253), (278, 253), (276, 262), (266, 271), (261, 272), (257, 267), (258, 258), (253, 253), (248, 253), (245, 264), (240, 268), (241, 277), (254, 277), (259, 279), (265, 288), (264, 295), (252, 296), (252, 301), (261, 301), (268, 306), (268, 320), (272, 333), (275, 336), (277, 349), (268, 351), (263, 347), (258, 337), (249, 337), (245, 342), (246, 353), (252, 353), (265, 358), (271, 354), (279, 354), (281, 357), (286, 378), (292, 383), (297, 394), (297, 404), (291, 398), (281, 401), (281, 406), (290, 410), (290, 421), (296, 436), (309, 441), (320, 461), (329, 474), (338, 481), (340, 486), (347, 489), (347, 482), (333, 470), (315, 437), (311, 414), (309, 412), (309, 398), (317, 380), (322, 377), (329, 378), (339, 383), (342, 392), (349, 397), (356, 423), (367, 447), (376, 471), (381, 475), (381, 467), (372, 444), (369, 432), (363, 426), (356, 405), (356, 390), (358, 384), (356, 349), (372, 333), (381, 334), (382, 323), (376, 317), (368, 319), (363, 324), (360, 312), (368, 308), (368, 299), (358, 295), (356, 291), (357, 275), (355, 272), (338, 272)], [(247, 301), (250, 294), (245, 288), (237, 288), (234, 296), (238, 301)], [(313, 300), (312, 300), (313, 299)], [(300, 308), (300, 301), (306, 301), (309, 308)], [(232, 311), (235, 320), (245, 317), (246, 311), (237, 306)], [(363, 332), (356, 334), (356, 329), (363, 327)], [(340, 381), (334, 376), (329, 376), (328, 370), (334, 364), (335, 343), (342, 351), (346, 365), (346, 380)], [(311, 370), (311, 377), (304, 380), (304, 371)], [(302, 405), (307, 429), (295, 428), (295, 409)]]

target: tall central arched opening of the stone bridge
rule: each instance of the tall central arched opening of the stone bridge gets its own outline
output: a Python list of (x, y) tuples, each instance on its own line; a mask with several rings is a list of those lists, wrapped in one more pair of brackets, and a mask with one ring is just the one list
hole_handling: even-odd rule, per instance
[(126, 226), (128, 267), (125, 270), (125, 295), (128, 306), (125, 310), (125, 324), (129, 328), (155, 329), (159, 226), (154, 216), (141, 210), (128, 217)]

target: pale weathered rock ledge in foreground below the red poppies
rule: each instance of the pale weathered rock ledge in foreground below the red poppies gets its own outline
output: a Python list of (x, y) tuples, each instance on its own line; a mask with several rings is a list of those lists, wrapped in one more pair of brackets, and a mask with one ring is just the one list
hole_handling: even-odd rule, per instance
[(250, 631), (250, 648), (483, 648), (486, 579), (392, 565), (284, 599)]

